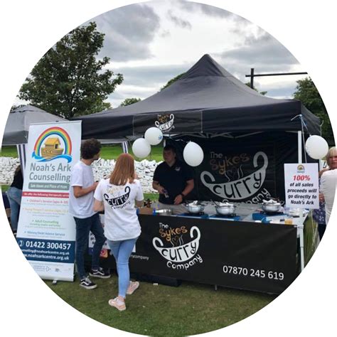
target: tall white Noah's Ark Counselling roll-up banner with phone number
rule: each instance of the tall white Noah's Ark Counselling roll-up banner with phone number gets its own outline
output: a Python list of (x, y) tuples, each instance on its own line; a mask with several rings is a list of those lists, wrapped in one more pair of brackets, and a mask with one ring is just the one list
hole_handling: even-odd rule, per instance
[(73, 281), (75, 222), (68, 213), (71, 169), (80, 160), (80, 122), (33, 124), (16, 240), (43, 279)]

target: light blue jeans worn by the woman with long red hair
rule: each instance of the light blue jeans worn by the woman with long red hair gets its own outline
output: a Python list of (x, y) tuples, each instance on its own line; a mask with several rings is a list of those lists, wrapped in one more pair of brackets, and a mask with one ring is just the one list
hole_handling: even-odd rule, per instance
[(130, 283), (129, 257), (137, 239), (138, 237), (123, 241), (107, 240), (107, 244), (109, 245), (117, 264), (118, 295), (123, 296), (124, 298), (127, 296), (127, 287), (129, 287)]

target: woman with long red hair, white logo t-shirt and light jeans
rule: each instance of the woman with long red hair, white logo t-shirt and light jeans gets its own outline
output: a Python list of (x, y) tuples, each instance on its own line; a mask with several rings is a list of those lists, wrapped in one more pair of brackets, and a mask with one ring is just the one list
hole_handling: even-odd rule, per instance
[(94, 198), (94, 210), (105, 211), (105, 236), (117, 264), (118, 296), (110, 299), (109, 305), (122, 311), (126, 309), (126, 295), (139, 287), (139, 282), (130, 282), (129, 257), (141, 234), (134, 205), (141, 206), (144, 200), (130, 154), (117, 158), (114, 171), (109, 178), (100, 181)]

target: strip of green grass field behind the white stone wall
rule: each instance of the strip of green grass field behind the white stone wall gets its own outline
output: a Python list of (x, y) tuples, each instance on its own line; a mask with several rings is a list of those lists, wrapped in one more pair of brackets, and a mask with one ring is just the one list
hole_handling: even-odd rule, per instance
[[(117, 159), (119, 154), (122, 154), (122, 152), (122, 146), (120, 144), (104, 144), (102, 145), (101, 157), (102, 159)], [(129, 146), (129, 153), (133, 155), (131, 146)], [(16, 151), (16, 146), (3, 146), (1, 148), (0, 156), (17, 158), (18, 152)], [(143, 160), (137, 157), (134, 157), (134, 159), (136, 159), (137, 161)], [(151, 153), (145, 159), (162, 161), (163, 144), (151, 146)]]

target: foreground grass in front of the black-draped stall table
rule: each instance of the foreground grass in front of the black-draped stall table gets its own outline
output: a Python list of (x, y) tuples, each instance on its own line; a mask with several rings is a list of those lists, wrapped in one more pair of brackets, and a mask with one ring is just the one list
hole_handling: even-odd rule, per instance
[[(97, 281), (97, 282), (96, 282)], [(97, 289), (78, 282), (58, 282), (50, 289), (83, 314), (123, 331), (150, 336), (186, 336), (214, 331), (259, 311), (276, 296), (183, 282), (180, 287), (141, 282), (119, 312), (107, 301), (117, 295), (117, 276), (95, 279)]]

